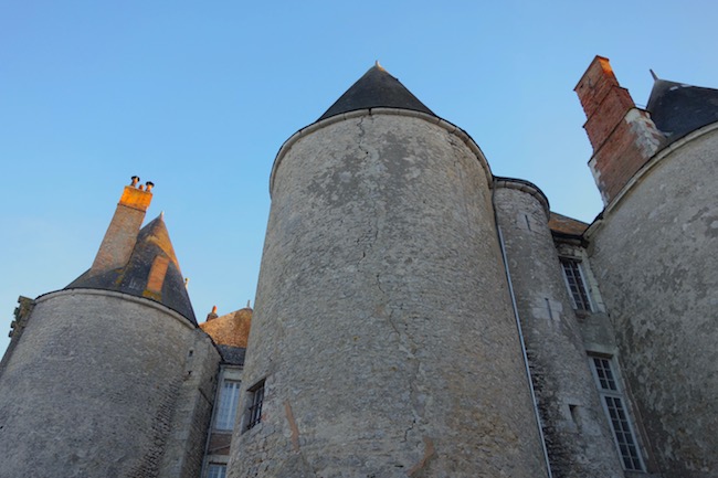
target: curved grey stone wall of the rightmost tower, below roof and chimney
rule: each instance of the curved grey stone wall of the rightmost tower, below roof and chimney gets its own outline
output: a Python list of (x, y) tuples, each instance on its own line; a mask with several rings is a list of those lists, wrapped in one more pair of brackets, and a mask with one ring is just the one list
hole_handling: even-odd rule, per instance
[(665, 476), (718, 477), (717, 155), (718, 125), (674, 142), (590, 230), (623, 374)]

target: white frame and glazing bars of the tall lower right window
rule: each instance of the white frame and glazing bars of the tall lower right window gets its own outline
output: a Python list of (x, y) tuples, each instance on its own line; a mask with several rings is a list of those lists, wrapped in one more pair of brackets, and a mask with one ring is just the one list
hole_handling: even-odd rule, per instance
[[(608, 365), (608, 371), (611, 375), (610, 378), (606, 378), (605, 373), (603, 378), (600, 376), (596, 361), (601, 361), (602, 369), (604, 370)], [(599, 390), (601, 406), (603, 407), (603, 413), (605, 414), (609, 426), (611, 427), (613, 443), (615, 444), (623, 469), (626, 471), (645, 471), (646, 465), (643, 459), (641, 443), (638, 440), (638, 435), (635, 433), (635, 427), (633, 426), (633, 417), (631, 416), (629, 402), (623, 393), (621, 376), (615, 361), (612, 357), (590, 353), (589, 362), (595, 386)], [(609, 402), (612, 402), (614, 406), (616, 403), (620, 404), (620, 410), (617, 412), (623, 414), (623, 417), (619, 416), (617, 422), (620, 422), (621, 429), (617, 429), (616, 427), (616, 418), (614, 417), (615, 413), (612, 413), (609, 408)], [(620, 435), (624, 436), (622, 440), (620, 439)], [(626, 443), (626, 438), (632, 443)], [(631, 454), (630, 447), (633, 447), (633, 455)], [(626, 448), (626, 450), (623, 448)]]

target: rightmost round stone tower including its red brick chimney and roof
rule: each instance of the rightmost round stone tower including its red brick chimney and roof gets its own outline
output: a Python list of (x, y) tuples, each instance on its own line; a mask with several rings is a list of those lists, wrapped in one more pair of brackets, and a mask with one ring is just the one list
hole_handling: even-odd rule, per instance
[[(598, 56), (576, 91), (605, 199), (585, 237), (647, 437), (647, 468), (714, 478), (718, 89), (656, 78), (648, 117)], [(627, 106), (612, 106), (620, 103)]]

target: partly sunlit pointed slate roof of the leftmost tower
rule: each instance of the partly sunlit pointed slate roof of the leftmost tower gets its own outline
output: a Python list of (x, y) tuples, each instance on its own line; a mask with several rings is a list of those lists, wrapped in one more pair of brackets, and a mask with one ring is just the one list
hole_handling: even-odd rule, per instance
[[(152, 263), (158, 256), (168, 258), (169, 265), (162, 282), (161, 293), (152, 294), (147, 290), (147, 282)], [(184, 286), (184, 278), (180, 272), (162, 215), (159, 215), (141, 229), (137, 235), (137, 243), (129, 262), (125, 267), (101, 274), (92, 274), (91, 270), (87, 270), (65, 287), (65, 289), (74, 288), (115, 290), (149, 298), (181, 314), (197, 325), (192, 304)]]

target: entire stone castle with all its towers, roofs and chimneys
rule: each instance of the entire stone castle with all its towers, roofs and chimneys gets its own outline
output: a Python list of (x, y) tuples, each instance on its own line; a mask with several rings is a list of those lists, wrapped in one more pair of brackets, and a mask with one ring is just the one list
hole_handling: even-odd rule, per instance
[(576, 92), (590, 225), (370, 68), (276, 157), (254, 311), (201, 325), (134, 178), (20, 299), (0, 477), (718, 477), (718, 91)]

